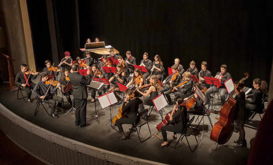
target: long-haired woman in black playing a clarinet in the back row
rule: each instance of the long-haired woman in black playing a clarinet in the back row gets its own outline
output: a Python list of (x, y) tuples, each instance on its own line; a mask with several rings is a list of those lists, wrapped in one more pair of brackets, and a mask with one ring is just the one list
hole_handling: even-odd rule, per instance
[[(161, 77), (163, 76), (163, 62), (160, 58), (160, 56), (157, 54), (154, 56), (154, 61), (152, 63), (152, 68), (151, 68), (151, 75), (156, 75), (157, 79), (161, 79)], [(147, 77), (147, 82), (149, 82), (150, 76)]]

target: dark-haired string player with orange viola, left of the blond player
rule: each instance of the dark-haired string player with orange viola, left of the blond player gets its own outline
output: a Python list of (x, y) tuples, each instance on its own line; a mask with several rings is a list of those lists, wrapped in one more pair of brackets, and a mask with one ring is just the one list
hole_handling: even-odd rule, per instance
[(170, 94), (172, 93), (172, 89), (174, 86), (177, 86), (180, 83), (181, 75), (178, 72), (178, 66), (173, 65), (171, 67), (173, 74), (168, 76), (162, 84), (166, 84), (164, 88), (161, 89), (161, 93), (166, 96), (168, 104), (166, 106), (170, 106), (173, 104), (172, 99), (170, 98)]

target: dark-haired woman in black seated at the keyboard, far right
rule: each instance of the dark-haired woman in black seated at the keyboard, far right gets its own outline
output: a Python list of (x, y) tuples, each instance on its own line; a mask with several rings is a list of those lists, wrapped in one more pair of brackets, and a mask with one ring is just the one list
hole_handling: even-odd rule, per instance
[(256, 89), (254, 93), (250, 95), (245, 95), (246, 98), (251, 98), (251, 100), (246, 99), (245, 108), (251, 111), (261, 110), (263, 92), (267, 90), (267, 83), (257, 78), (253, 80), (253, 87)]

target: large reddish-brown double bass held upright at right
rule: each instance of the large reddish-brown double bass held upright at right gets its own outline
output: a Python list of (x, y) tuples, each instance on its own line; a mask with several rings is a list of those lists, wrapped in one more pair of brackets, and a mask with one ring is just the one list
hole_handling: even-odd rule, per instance
[[(244, 76), (245, 77), (237, 84), (237, 87), (247, 79), (249, 75), (248, 73), (244, 73)], [(220, 118), (211, 130), (211, 140), (220, 145), (225, 144), (230, 139), (234, 130), (234, 114), (236, 105), (236, 100), (232, 97), (234, 92), (235, 90), (233, 90), (228, 100), (222, 106), (220, 110)]]

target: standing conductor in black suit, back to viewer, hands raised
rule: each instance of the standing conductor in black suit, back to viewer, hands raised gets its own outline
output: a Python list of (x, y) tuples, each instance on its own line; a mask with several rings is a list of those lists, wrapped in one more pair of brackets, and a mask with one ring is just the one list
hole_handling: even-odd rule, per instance
[(72, 73), (68, 75), (72, 88), (73, 88), (73, 97), (75, 100), (75, 117), (76, 126), (86, 127), (90, 123), (86, 123), (86, 104), (87, 104), (87, 85), (91, 82), (90, 70), (87, 70), (87, 77), (79, 74), (79, 64), (72, 64)]

